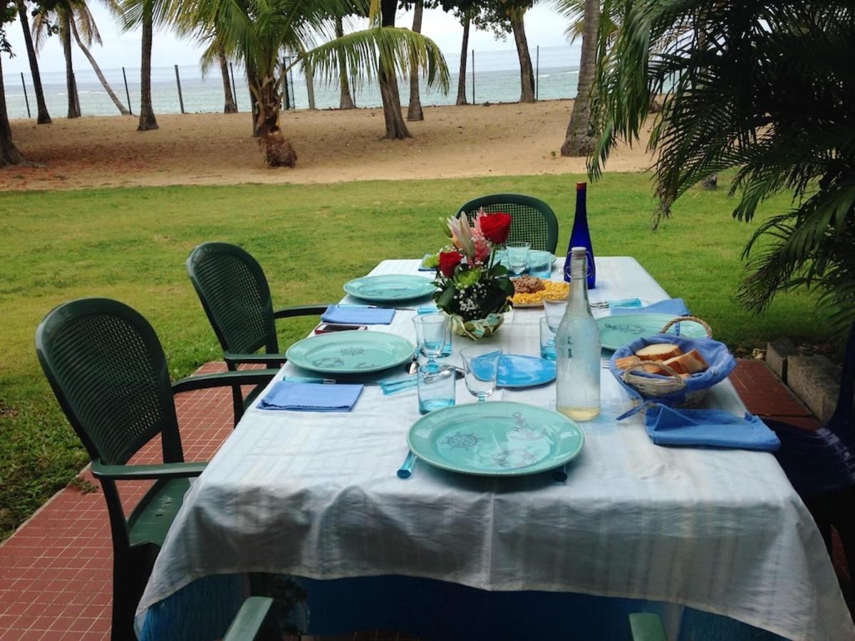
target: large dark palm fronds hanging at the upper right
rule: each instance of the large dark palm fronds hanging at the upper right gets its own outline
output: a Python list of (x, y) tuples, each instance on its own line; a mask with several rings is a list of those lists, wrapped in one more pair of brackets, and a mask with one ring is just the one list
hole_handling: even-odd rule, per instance
[(650, 138), (659, 152), (654, 224), (689, 187), (728, 168), (741, 221), (787, 193), (793, 206), (763, 221), (746, 246), (740, 299), (759, 312), (777, 291), (807, 285), (837, 326), (851, 325), (855, 7), (609, 1), (620, 3), (622, 29), (598, 61), (593, 118), (603, 134), (593, 176), (618, 138), (639, 138), (651, 98), (664, 94)]

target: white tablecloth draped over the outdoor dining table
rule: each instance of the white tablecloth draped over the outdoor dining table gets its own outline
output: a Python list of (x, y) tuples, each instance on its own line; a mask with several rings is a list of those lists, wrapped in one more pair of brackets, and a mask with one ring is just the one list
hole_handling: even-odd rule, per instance
[[(372, 273), (416, 267), (384, 261)], [(633, 258), (597, 267), (592, 300), (667, 297)], [(372, 329), (412, 339), (414, 313)], [(509, 313), (492, 342), (538, 354), (541, 316)], [(456, 350), (466, 344), (455, 338)], [(283, 374), (311, 375), (291, 364)], [(855, 638), (823, 540), (775, 458), (657, 447), (640, 417), (615, 422), (630, 403), (602, 374), (602, 414), (581, 424), (585, 448), (564, 484), (549, 474), (469, 478), (422, 462), (398, 479), (419, 417), (415, 390), (384, 397), (366, 385), (348, 414), (250, 409), (192, 485), (139, 612), (209, 574), (401, 574), (681, 603), (787, 638)], [(555, 385), (494, 397), (554, 409)], [(457, 403), (474, 401), (458, 381)], [(710, 404), (744, 411), (729, 381)]]

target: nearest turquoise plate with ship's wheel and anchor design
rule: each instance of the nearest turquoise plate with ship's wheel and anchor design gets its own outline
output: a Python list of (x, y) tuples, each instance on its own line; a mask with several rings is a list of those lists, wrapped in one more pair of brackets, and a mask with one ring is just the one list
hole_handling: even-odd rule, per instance
[(451, 472), (522, 476), (560, 468), (579, 456), (585, 435), (566, 416), (523, 403), (467, 403), (422, 416), (410, 450)]

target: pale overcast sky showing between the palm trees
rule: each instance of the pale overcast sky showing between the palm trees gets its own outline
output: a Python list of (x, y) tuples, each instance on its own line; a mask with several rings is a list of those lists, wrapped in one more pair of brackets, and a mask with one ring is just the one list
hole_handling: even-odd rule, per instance
[[(140, 44), (139, 32), (122, 32), (116, 25), (115, 19), (109, 15), (100, 3), (89, 3), (92, 14), (95, 16), (97, 26), (103, 38), (103, 47), (94, 47), (92, 54), (102, 68), (139, 68)], [(398, 26), (412, 26), (413, 17), (411, 13), (398, 12), (395, 24)], [(528, 44), (534, 48), (556, 47), (567, 44), (564, 37), (565, 23), (563, 18), (544, 4), (540, 4), (530, 10), (525, 18), (526, 34)], [(6, 25), (6, 32), (15, 57), (9, 60), (3, 56), (3, 74), (18, 74), (24, 72), (29, 74), (30, 68), (27, 62), (27, 50), (24, 48), (24, 39), (21, 34), (21, 24), (17, 21)], [(460, 50), (463, 27), (453, 15), (445, 14), (439, 10), (425, 11), (422, 21), (422, 32), (439, 44), (439, 48), (446, 54), (457, 54)], [(514, 49), (513, 38), (497, 41), (492, 32), (469, 32), (469, 50), (498, 50)], [(161, 31), (155, 33), (154, 45), (151, 51), (151, 64), (154, 67), (167, 67), (174, 64), (195, 65), (199, 61), (199, 50), (193, 46), (192, 41), (181, 40), (172, 32)], [(83, 53), (74, 46), (74, 67), (88, 68)], [(38, 68), (43, 72), (60, 72), (65, 70), (65, 62), (62, 58), (62, 46), (56, 36), (48, 38), (42, 50), (38, 54)]]

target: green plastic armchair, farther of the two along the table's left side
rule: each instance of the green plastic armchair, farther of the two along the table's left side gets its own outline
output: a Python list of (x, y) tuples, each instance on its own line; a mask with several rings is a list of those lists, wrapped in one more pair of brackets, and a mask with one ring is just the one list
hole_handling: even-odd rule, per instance
[[(187, 258), (187, 273), (231, 371), (236, 371), (240, 363), (281, 367), (286, 357), (279, 353), (276, 319), (321, 315), (333, 304), (296, 305), (274, 310), (261, 265), (233, 244), (200, 244)], [(258, 350), (264, 353), (258, 354)], [(233, 387), (235, 424), (261, 390), (257, 387), (244, 397), (239, 386)]]

